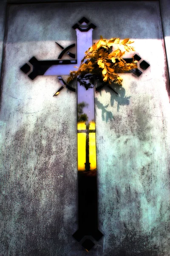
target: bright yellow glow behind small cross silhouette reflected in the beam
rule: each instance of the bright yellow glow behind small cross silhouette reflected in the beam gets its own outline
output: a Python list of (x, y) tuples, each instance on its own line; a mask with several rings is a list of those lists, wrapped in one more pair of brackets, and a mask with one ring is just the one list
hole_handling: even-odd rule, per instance
[[(77, 130), (86, 130), (85, 122), (77, 124)], [(90, 169), (96, 169), (96, 133), (90, 132), (95, 130), (95, 122), (90, 122), (89, 127), (89, 162), (91, 163)], [(77, 148), (78, 148), (78, 171), (85, 171), (86, 162), (86, 133), (77, 133)]]

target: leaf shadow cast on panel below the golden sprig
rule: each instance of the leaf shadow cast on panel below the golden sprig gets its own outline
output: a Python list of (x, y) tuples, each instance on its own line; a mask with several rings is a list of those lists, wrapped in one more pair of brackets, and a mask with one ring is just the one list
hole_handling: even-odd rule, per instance
[[(113, 90), (111, 89), (113, 88)], [(114, 103), (117, 102), (117, 111), (119, 112), (119, 106), (122, 105), (129, 105), (130, 104), (130, 97), (131, 96), (126, 96), (126, 91), (125, 88), (116, 84), (112, 84), (110, 87), (104, 87), (106, 93), (111, 94), (111, 107), (113, 107)], [(118, 94), (116, 94), (116, 92)], [(102, 91), (100, 91), (100, 96), (102, 96)], [(95, 105), (97, 108), (102, 110), (102, 121), (108, 122), (109, 119), (113, 119), (113, 111), (108, 111), (107, 108), (109, 104), (103, 105), (99, 99), (96, 97), (95, 98)], [(96, 110), (95, 110), (96, 112)], [(96, 113), (95, 113), (96, 114)]]

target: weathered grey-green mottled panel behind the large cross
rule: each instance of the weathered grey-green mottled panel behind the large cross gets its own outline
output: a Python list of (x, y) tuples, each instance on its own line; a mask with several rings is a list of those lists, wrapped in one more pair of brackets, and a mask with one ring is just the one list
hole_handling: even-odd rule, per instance
[(76, 93), (52, 97), (60, 86), (55, 76), (31, 81), (20, 71), (32, 56), (56, 59), (55, 41), (75, 42), (71, 26), (82, 16), (97, 26), (94, 40), (130, 37), (150, 64), (140, 78), (122, 75), (119, 96), (110, 89), (95, 94), (99, 230), (105, 236), (89, 255), (170, 256), (170, 88), (157, 1), (9, 7), (0, 255), (87, 255), (72, 238), (78, 228)]

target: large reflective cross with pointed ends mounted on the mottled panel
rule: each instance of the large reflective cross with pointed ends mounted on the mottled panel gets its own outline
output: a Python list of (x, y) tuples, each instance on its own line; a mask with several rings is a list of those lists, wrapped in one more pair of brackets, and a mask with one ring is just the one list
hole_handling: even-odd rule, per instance
[[(33, 57), (29, 60), (33, 70), (28, 64), (23, 65), (20, 69), (28, 74), (32, 80), (40, 75), (57, 75), (62, 87), (59, 88), (57, 93), (67, 87), (69, 90), (76, 91), (73, 87), (67, 84), (62, 75), (68, 75), (70, 70), (75, 70), (74, 66), (81, 64), (85, 51), (92, 45), (92, 31), (96, 26), (90, 23), (85, 17), (79, 20), (73, 26), (77, 32), (77, 59), (75, 55), (68, 51), (75, 46), (72, 44), (66, 48), (57, 45), (62, 49), (58, 60), (54, 61), (39, 61)], [(62, 56), (67, 52), (71, 60), (61, 60)], [(138, 55), (134, 55), (134, 59), (140, 61)], [(132, 58), (125, 59), (127, 63), (132, 62)], [(140, 68), (145, 70), (149, 67), (146, 61), (140, 63)], [(133, 71), (136, 76), (142, 74), (141, 70)], [(96, 90), (102, 89), (105, 84), (101, 84)], [(83, 91), (84, 90), (84, 91)], [(113, 90), (113, 89), (112, 89)], [(118, 93), (117, 93), (118, 94)], [(86, 113), (82, 113), (84, 122), (78, 122), (77, 142), (78, 142), (78, 215), (79, 215), (79, 229), (74, 233), (74, 238), (82, 244), (85, 250), (89, 251), (94, 245), (95, 241), (103, 236), (98, 230), (98, 215), (97, 215), (97, 176), (96, 176), (96, 128), (94, 116), (94, 87), (88, 88), (88, 95), (86, 94), (85, 87), (80, 86), (77, 81), (77, 102), (78, 105), (84, 102)], [(89, 120), (91, 119), (91, 120)], [(85, 135), (85, 136), (84, 136)], [(83, 139), (84, 138), (84, 139)], [(83, 141), (84, 140), (84, 141)], [(93, 145), (93, 146), (92, 146)], [(93, 154), (91, 152), (93, 151)], [(83, 162), (83, 160), (85, 160)], [(82, 161), (82, 163), (81, 163)]]

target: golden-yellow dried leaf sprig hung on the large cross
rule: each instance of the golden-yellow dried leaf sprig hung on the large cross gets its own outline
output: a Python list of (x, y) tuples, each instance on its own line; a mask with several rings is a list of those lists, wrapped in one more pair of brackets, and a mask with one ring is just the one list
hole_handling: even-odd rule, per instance
[[(77, 67), (78, 70), (71, 71), (67, 83), (70, 83), (75, 78), (81, 80), (86, 74), (91, 73), (100, 77), (99, 80), (103, 80), (105, 83), (111, 84), (114, 82), (122, 85), (122, 78), (117, 73), (124, 73), (136, 68), (137, 61), (133, 59), (132, 63), (126, 63), (122, 58), (125, 51), (134, 51), (134, 48), (129, 46), (132, 43), (133, 41), (129, 41), (129, 38), (122, 41), (120, 38), (111, 38), (108, 41), (100, 36), (100, 40), (85, 52), (85, 57), (82, 59), (80, 66)], [(122, 51), (121, 47), (125, 51)], [(87, 61), (85, 61), (86, 59)], [(83, 83), (80, 84), (83, 85)], [(87, 89), (88, 87), (86, 87)]]

